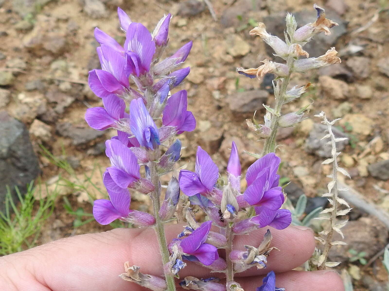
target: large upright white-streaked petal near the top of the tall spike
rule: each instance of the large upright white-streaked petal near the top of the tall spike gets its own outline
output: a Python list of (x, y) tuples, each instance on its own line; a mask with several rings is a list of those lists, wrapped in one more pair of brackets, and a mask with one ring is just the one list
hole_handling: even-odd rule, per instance
[(140, 62), (145, 71), (150, 70), (152, 56), (155, 52), (155, 43), (151, 33), (140, 23), (131, 23), (126, 33), (124, 42), (126, 51), (135, 52), (140, 58)]

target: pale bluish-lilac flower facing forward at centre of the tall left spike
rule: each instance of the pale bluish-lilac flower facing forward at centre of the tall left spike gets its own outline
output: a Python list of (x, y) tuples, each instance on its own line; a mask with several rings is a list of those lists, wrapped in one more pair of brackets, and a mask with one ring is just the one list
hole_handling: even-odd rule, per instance
[[(151, 139), (151, 136), (144, 136), (145, 130), (149, 127), (154, 129), (154, 132), (150, 132), (158, 135), (158, 128), (154, 121), (152, 120), (149, 112), (147, 111), (142, 98), (134, 99), (130, 104), (130, 127), (131, 132), (137, 138), (140, 145), (144, 147), (149, 147), (148, 141)], [(149, 128), (150, 129), (150, 128)], [(158, 137), (159, 141), (159, 137)]]

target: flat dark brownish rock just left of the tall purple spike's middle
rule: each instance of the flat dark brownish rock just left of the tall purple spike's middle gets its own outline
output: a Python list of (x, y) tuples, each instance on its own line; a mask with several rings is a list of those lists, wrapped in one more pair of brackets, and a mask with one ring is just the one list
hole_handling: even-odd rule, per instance
[(94, 140), (104, 134), (104, 131), (90, 127), (77, 127), (69, 122), (57, 123), (56, 131), (63, 137), (73, 139), (74, 145), (81, 145)]

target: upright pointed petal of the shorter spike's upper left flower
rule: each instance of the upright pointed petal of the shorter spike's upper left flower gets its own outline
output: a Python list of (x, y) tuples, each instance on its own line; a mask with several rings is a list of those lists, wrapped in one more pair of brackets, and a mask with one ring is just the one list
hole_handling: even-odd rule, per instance
[(212, 161), (209, 154), (201, 147), (197, 147), (195, 170), (202, 184), (208, 191), (211, 191), (217, 178), (219, 178), (219, 168), (217, 168), (217, 165)]

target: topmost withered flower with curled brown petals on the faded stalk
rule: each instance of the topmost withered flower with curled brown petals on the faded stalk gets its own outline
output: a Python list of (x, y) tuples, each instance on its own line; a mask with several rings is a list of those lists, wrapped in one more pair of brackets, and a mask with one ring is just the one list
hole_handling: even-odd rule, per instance
[(324, 32), (325, 35), (331, 35), (331, 31), (329, 31), (329, 29), (338, 25), (337, 23), (326, 19), (326, 13), (324, 9), (317, 6), (316, 4), (314, 4), (314, 9), (317, 11), (316, 21), (314, 23), (308, 23), (300, 27), (293, 34), (294, 40), (301, 42), (302, 45), (309, 42), (313, 36), (321, 32)]

